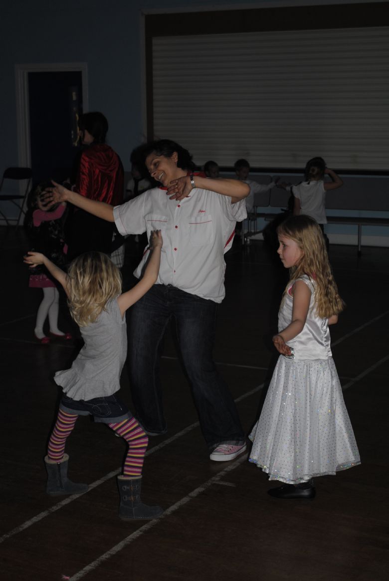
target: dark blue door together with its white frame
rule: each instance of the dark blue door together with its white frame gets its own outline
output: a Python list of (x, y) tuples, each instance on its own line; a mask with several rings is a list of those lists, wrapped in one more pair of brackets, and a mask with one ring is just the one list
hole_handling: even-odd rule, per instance
[(37, 183), (65, 180), (77, 147), (77, 116), (88, 110), (86, 63), (16, 65), (19, 166)]

